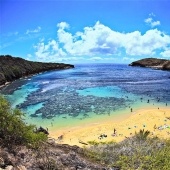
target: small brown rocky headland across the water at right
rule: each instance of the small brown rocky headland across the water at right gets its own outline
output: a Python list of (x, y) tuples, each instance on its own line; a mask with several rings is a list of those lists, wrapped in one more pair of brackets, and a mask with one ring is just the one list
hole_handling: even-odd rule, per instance
[(150, 67), (161, 70), (170, 70), (170, 60), (145, 58), (138, 61), (134, 61), (129, 64), (129, 66)]

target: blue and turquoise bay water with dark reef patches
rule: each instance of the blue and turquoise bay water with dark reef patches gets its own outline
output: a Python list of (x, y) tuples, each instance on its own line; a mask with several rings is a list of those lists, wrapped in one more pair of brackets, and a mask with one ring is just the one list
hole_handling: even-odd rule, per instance
[(125, 64), (77, 64), (17, 80), (1, 94), (26, 113), (26, 121), (64, 127), (170, 105), (170, 72)]

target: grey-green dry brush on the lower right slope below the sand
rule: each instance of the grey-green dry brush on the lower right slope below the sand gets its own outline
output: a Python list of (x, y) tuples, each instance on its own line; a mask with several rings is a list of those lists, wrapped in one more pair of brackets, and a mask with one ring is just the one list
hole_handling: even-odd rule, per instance
[(149, 131), (140, 130), (131, 138), (109, 145), (91, 141), (92, 146), (85, 148), (84, 154), (92, 161), (121, 170), (168, 170), (170, 140), (151, 138), (149, 134)]

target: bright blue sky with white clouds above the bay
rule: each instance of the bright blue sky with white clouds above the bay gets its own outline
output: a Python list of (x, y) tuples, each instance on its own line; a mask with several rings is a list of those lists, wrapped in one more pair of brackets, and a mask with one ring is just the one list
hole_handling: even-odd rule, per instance
[(169, 0), (0, 0), (0, 55), (59, 63), (170, 59)]

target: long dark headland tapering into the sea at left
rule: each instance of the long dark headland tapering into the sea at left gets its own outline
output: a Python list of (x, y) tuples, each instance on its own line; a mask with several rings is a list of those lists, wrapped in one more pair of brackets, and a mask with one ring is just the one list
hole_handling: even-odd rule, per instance
[(32, 62), (10, 55), (0, 55), (0, 86), (24, 76), (69, 68), (74, 68), (74, 66), (63, 63)]

